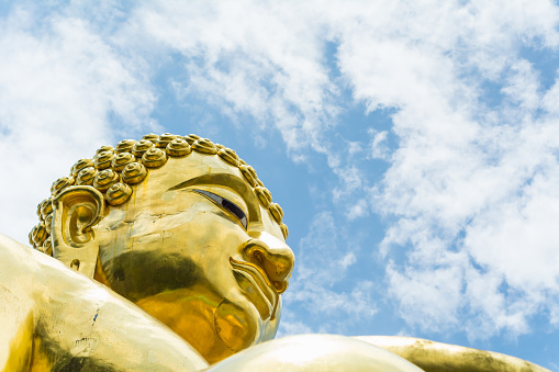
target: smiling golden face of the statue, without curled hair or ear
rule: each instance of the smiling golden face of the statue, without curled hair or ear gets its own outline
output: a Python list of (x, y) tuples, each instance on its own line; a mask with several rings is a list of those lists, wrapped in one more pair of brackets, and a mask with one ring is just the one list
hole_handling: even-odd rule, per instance
[(276, 335), (293, 252), (239, 170), (219, 157), (169, 158), (93, 230), (94, 279), (209, 362)]

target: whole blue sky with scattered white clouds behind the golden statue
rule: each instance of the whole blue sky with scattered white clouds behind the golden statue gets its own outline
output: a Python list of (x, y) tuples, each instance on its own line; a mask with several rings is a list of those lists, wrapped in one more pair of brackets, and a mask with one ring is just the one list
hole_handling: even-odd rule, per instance
[(298, 263), (280, 336), (404, 335), (559, 370), (552, 1), (0, 2), (1, 232), (148, 132), (234, 148)]

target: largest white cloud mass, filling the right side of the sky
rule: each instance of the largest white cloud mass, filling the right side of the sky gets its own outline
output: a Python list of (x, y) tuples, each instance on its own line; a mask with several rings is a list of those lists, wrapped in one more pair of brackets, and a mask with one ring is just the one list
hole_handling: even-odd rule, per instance
[[(382, 184), (371, 190), (377, 211), (392, 221), (382, 256), (407, 247), (388, 279), (413, 327), (471, 338), (519, 335), (537, 312), (557, 306), (555, 91), (541, 95), (540, 77), (519, 49), (526, 40), (556, 47), (559, 18), (551, 3), (530, 4), (467, 5), (471, 14), (454, 20), (466, 58), (454, 59), (446, 37), (434, 41), (435, 48), (407, 40), (387, 52), (403, 59), (404, 79), (387, 78), (398, 70), (388, 63), (378, 63), (385, 82), (369, 76), (379, 67), (356, 75), (356, 92), (372, 108), (401, 109), (392, 129), (400, 147)], [(378, 87), (389, 81), (396, 87), (384, 94)], [(488, 81), (503, 94), (493, 108), (480, 101)], [(538, 116), (540, 108), (550, 114)]]

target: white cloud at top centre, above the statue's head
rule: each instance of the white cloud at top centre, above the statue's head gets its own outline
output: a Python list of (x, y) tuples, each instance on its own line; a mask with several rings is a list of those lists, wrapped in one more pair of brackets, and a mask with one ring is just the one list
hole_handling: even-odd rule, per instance
[(123, 33), (139, 32), (181, 54), (187, 95), (202, 94), (230, 115), (271, 121), (290, 149), (326, 153), (320, 134), (338, 111), (337, 87), (322, 64), (322, 21), (311, 11), (311, 3), (150, 2)]

